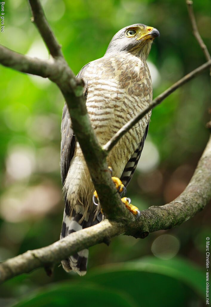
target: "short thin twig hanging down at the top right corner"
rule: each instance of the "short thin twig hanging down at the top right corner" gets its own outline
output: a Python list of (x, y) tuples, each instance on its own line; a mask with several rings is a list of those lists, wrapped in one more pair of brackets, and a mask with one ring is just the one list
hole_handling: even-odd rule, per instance
[[(195, 36), (196, 40), (198, 41), (199, 46), (201, 47), (205, 58), (207, 61), (211, 60), (211, 56), (209, 54), (209, 51), (207, 49), (207, 46), (205, 45), (204, 41), (202, 40), (201, 35), (199, 34), (195, 15), (194, 15), (194, 10), (193, 10), (193, 1), (192, 0), (186, 0), (187, 4), (187, 11), (191, 20), (191, 25), (193, 28), (193, 35)], [(211, 67), (209, 68), (209, 75), (210, 75), (210, 82), (211, 82)]]

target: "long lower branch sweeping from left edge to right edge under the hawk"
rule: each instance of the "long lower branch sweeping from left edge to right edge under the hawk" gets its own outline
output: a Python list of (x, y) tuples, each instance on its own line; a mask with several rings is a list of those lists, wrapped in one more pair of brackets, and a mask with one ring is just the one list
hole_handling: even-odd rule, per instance
[(0, 264), (0, 282), (39, 267), (52, 266), (77, 251), (101, 243), (108, 237), (125, 233), (145, 238), (149, 232), (176, 227), (201, 211), (210, 197), (211, 137), (189, 185), (171, 203), (142, 211), (140, 219), (135, 222), (123, 224), (106, 219), (97, 225), (76, 231), (47, 247), (27, 251), (8, 259)]

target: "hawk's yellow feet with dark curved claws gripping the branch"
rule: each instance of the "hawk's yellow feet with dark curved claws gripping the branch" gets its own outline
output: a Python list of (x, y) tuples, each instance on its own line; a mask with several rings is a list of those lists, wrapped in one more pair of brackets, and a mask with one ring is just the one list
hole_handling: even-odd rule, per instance
[[(112, 168), (109, 166), (109, 171), (111, 172), (111, 176), (112, 176)], [(118, 178), (118, 177), (111, 177), (111, 179), (113, 180), (114, 184), (115, 184), (115, 187), (117, 189), (117, 192), (120, 193), (120, 195), (122, 194), (122, 192), (124, 193), (124, 195), (126, 194), (127, 190), (125, 188), (125, 186), (123, 185), (123, 183), (121, 182), (121, 180)], [(117, 193), (116, 192), (116, 193)], [(96, 201), (98, 201), (98, 194), (97, 194), (97, 191), (95, 190), (94, 191), (94, 194), (93, 194), (93, 203), (95, 205), (98, 205), (98, 203), (96, 203)], [(121, 201), (123, 202), (123, 204), (125, 204), (125, 207), (130, 211), (132, 212), (134, 215), (137, 215), (137, 219), (140, 217), (141, 213), (139, 211), (139, 209), (135, 206), (133, 206), (131, 204), (131, 200), (130, 198), (128, 197), (123, 197), (121, 198)], [(101, 213), (102, 213), (102, 209), (101, 209)]]

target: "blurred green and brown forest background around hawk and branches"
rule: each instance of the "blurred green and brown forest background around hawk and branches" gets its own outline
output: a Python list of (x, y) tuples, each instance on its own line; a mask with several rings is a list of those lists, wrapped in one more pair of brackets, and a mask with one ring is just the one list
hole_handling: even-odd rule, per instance
[[(46, 17), (73, 72), (102, 57), (126, 25), (156, 27), (148, 58), (154, 97), (197, 66), (204, 55), (192, 35), (185, 1), (43, 0)], [(48, 52), (24, 0), (5, 2), (0, 43), (29, 56)], [(211, 3), (195, 0), (199, 31), (210, 46)], [(63, 217), (59, 170), (64, 99), (49, 80), (0, 67), (0, 260), (59, 239)], [(128, 186), (139, 209), (162, 205), (189, 182), (209, 137), (208, 71), (170, 95), (151, 116), (144, 150)], [(205, 240), (210, 208), (180, 227), (146, 239), (119, 236), (89, 249), (87, 275), (56, 266), (23, 274), (0, 288), (0, 306), (203, 306)], [(23, 301), (22, 301), (23, 299)]]

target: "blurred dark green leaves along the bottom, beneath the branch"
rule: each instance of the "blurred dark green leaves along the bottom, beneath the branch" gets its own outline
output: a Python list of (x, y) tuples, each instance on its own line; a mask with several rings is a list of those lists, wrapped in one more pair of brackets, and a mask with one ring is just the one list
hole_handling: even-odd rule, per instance
[[(183, 259), (152, 257), (96, 268), (86, 277), (52, 284), (13, 307), (187, 306), (204, 294), (202, 272)], [(170, 303), (171, 302), (171, 303)]]

